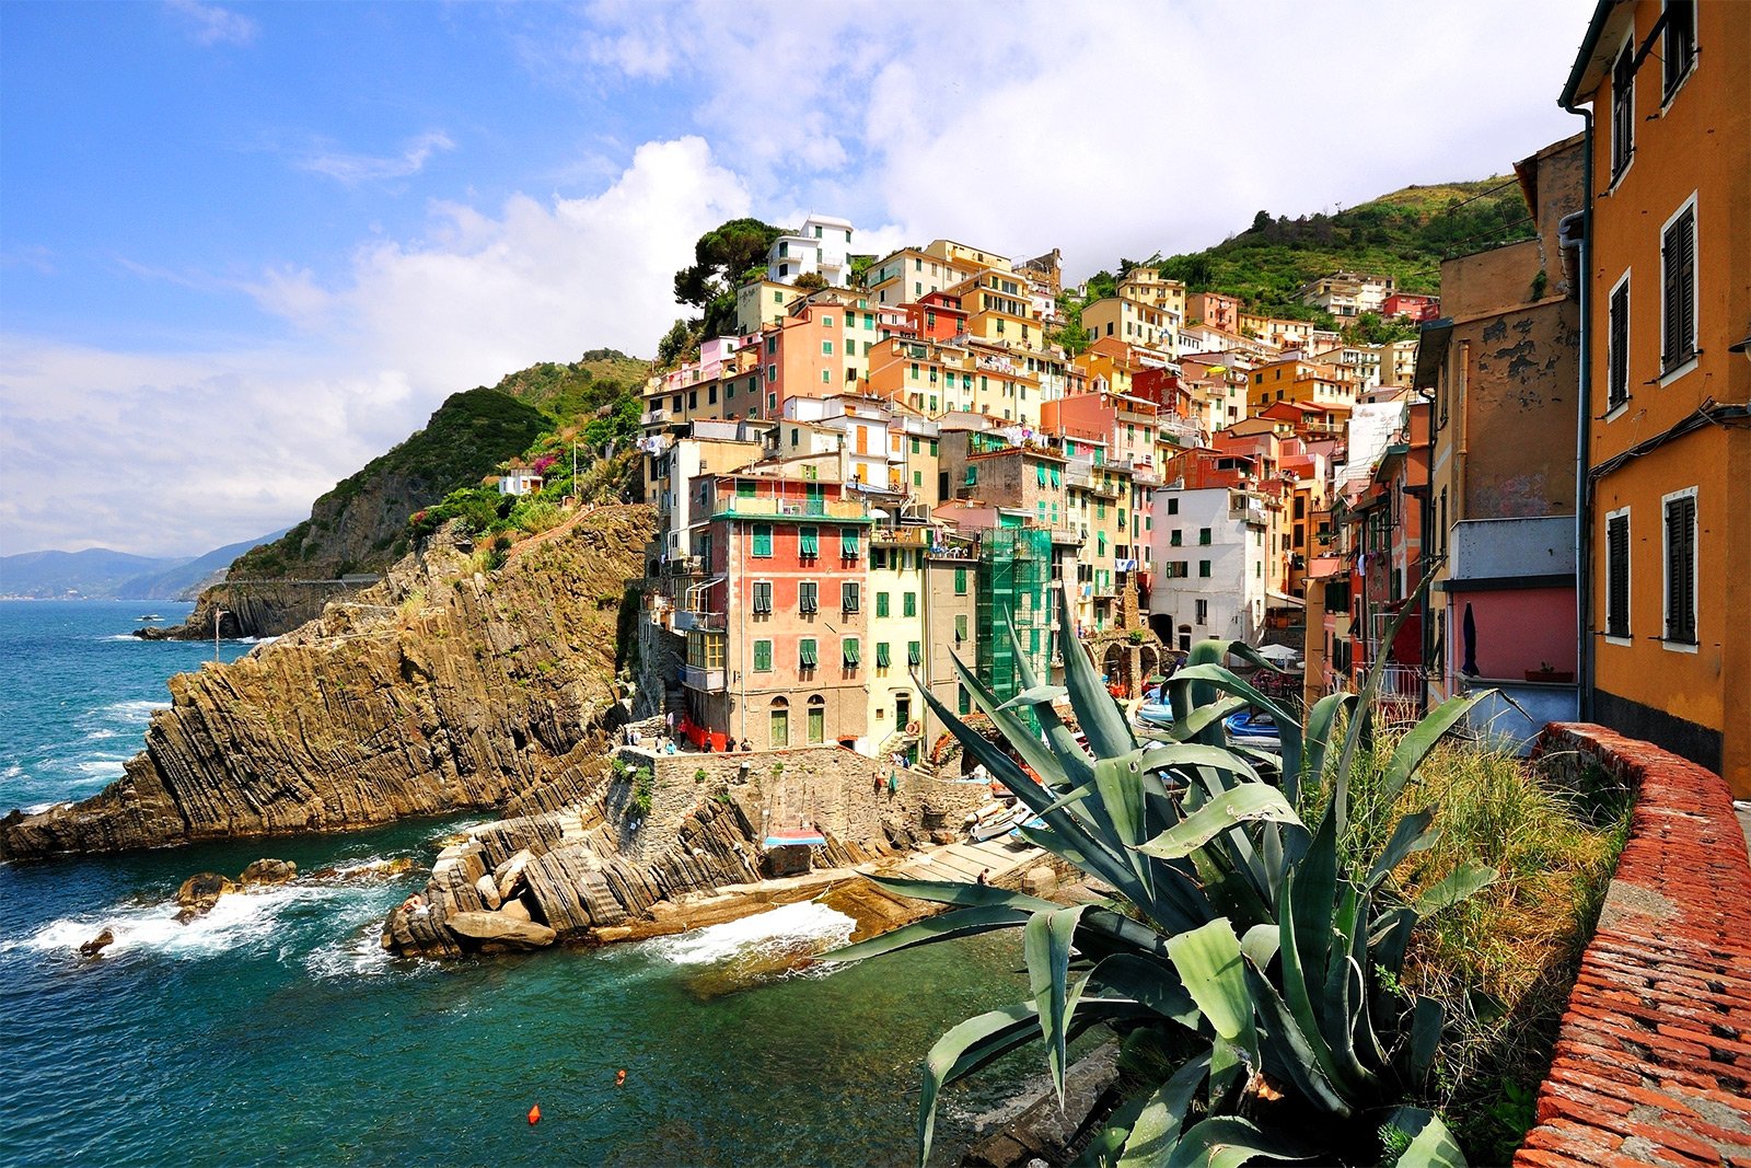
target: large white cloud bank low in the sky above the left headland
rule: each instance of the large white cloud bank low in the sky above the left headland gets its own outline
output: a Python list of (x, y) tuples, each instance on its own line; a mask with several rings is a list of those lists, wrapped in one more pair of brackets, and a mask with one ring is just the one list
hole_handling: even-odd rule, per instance
[(196, 354), (0, 336), (5, 552), (205, 552), (308, 513), (448, 394), (585, 348), (650, 352), (693, 240), (748, 214), (700, 138), (639, 147), (594, 198), (432, 210), (424, 243), (249, 291), (303, 341)]

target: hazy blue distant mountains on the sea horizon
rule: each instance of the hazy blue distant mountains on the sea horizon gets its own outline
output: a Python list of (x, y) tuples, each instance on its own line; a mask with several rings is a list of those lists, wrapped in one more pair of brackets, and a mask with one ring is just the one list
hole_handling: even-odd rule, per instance
[(282, 529), (184, 557), (130, 555), (109, 548), (0, 555), (0, 597), (193, 601), (201, 588), (221, 580), (236, 557), (284, 534)]

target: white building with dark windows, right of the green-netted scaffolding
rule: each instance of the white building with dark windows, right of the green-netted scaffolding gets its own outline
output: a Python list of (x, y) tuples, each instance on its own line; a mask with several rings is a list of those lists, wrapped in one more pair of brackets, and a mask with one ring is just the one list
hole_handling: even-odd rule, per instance
[(1149, 623), (1163, 643), (1180, 650), (1206, 637), (1257, 644), (1268, 525), (1264, 499), (1247, 490), (1156, 492)]

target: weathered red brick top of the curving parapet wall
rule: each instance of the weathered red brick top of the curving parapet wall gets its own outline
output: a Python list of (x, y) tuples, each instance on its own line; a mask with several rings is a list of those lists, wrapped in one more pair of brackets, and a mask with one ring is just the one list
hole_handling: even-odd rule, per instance
[(1588, 723), (1544, 727), (1539, 755), (1637, 800), (1515, 1166), (1751, 1166), (1751, 867), (1726, 785)]

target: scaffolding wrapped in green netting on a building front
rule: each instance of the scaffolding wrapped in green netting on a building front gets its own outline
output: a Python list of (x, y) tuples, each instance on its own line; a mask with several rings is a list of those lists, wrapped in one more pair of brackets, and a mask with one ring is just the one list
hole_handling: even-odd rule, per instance
[(1002, 527), (979, 546), (975, 608), (979, 679), (1009, 700), (1021, 693), (1016, 653), (1005, 629), (1014, 622), (1021, 651), (1037, 678), (1052, 676), (1052, 532)]

